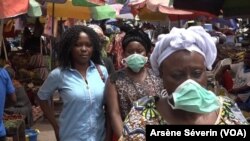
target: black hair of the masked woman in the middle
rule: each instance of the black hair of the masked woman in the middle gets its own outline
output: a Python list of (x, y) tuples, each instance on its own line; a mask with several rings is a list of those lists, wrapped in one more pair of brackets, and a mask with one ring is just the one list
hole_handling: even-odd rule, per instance
[(151, 40), (148, 37), (148, 34), (145, 33), (141, 29), (133, 29), (130, 30), (126, 35), (124, 36), (122, 40), (122, 48), (125, 50), (125, 48), (128, 46), (128, 44), (132, 41), (137, 41), (143, 45), (143, 47), (146, 50), (146, 53), (148, 54), (151, 50)]

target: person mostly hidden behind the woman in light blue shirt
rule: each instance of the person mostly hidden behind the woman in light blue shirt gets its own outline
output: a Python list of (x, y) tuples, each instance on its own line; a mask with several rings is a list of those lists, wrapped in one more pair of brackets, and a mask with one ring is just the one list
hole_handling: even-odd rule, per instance
[(102, 63), (105, 65), (105, 67), (108, 70), (109, 74), (112, 74), (115, 72), (115, 68), (113, 65), (112, 60), (107, 56), (107, 52), (105, 50), (105, 45), (108, 40), (108, 37), (106, 37), (103, 33), (103, 30), (100, 26), (95, 25), (95, 24), (90, 24), (88, 27), (92, 28), (99, 36), (101, 40), (101, 46), (102, 46)]

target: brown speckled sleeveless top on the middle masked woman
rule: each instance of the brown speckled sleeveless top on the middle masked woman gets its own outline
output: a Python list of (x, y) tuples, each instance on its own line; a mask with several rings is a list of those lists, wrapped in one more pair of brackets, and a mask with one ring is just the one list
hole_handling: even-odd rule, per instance
[(144, 96), (160, 95), (163, 90), (162, 79), (157, 77), (151, 69), (143, 83), (134, 82), (126, 74), (125, 69), (117, 71), (110, 76), (111, 83), (115, 84), (120, 105), (122, 120), (125, 119), (133, 102)]

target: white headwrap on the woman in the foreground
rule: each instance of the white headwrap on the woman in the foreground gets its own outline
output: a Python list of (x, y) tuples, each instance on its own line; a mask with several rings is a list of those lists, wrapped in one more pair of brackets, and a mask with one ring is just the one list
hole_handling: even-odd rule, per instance
[(186, 49), (204, 56), (206, 67), (211, 70), (217, 56), (217, 49), (212, 37), (201, 26), (188, 29), (173, 28), (169, 34), (161, 35), (150, 57), (153, 71), (159, 75), (159, 67), (172, 53)]

